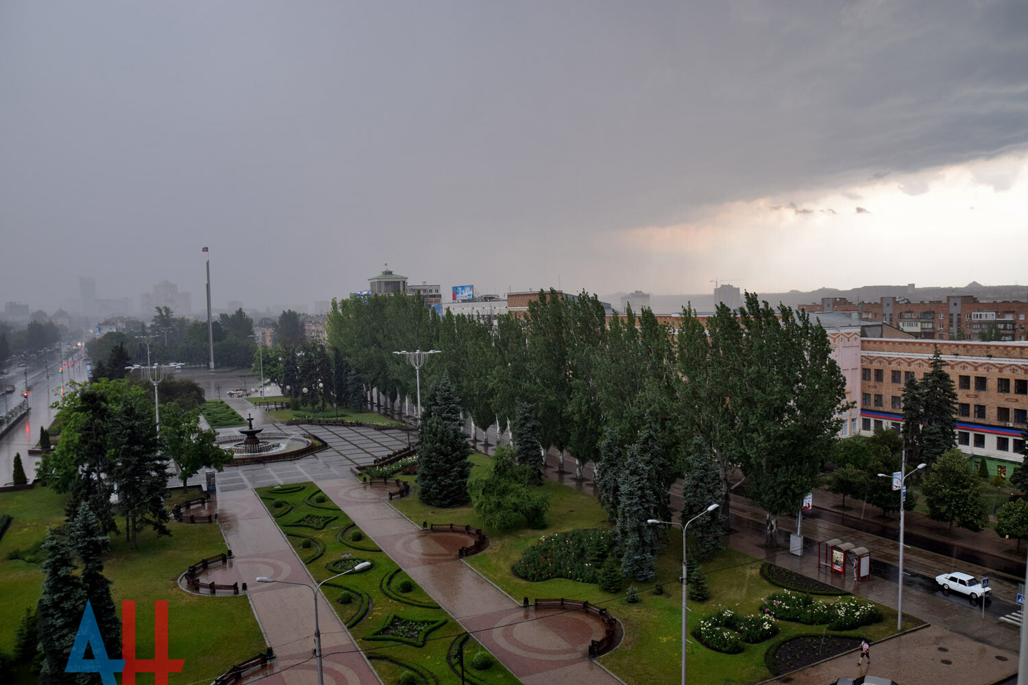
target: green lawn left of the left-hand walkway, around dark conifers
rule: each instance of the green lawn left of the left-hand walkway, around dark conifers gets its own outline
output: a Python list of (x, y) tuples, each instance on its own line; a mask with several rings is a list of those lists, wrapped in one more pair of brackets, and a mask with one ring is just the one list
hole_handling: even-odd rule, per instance
[[(0, 541), (0, 615), (11, 617), (0, 621), (0, 649), (4, 651), (12, 649), (17, 619), (39, 599), (43, 579), (37, 564), (7, 556), (41, 541), (48, 526), (62, 524), (65, 501), (66, 496), (41, 487), (0, 494), (0, 512), (14, 516)], [(264, 639), (246, 597), (197, 597), (177, 585), (190, 563), (224, 551), (218, 526), (172, 522), (169, 527), (171, 537), (140, 533), (138, 549), (130, 549), (123, 535), (115, 536), (104, 575), (113, 581), (116, 603), (136, 601), (137, 656), (153, 654), (153, 602), (168, 600), (169, 655), (185, 659), (183, 672), (172, 674), (170, 682), (210, 682), (233, 663), (262, 651)], [(35, 682), (23, 676), (20, 682)], [(146, 682), (145, 676), (140, 682)]]

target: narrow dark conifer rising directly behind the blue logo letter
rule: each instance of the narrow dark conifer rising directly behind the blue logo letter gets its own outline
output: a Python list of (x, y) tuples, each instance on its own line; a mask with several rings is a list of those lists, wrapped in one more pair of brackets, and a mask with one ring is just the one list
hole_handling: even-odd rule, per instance
[(111, 581), (103, 575), (103, 557), (111, 548), (111, 540), (100, 530), (100, 522), (84, 502), (79, 504), (78, 512), (68, 526), (68, 540), (82, 562), (79, 577), (85, 597), (93, 604), (107, 654), (118, 654), (121, 651), (121, 620), (111, 598)]

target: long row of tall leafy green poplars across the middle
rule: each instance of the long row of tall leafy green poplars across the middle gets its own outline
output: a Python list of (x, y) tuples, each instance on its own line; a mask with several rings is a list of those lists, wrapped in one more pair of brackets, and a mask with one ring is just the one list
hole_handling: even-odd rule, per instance
[(527, 407), (541, 447), (574, 459), (578, 475), (596, 465), (610, 510), (621, 506), (626, 469), (648, 483), (633, 488), (632, 501), (651, 493), (639, 510), (661, 510), (648, 497), (666, 498), (658, 493), (685, 477), (683, 516), (721, 502), (696, 523), (720, 528), (740, 468), (773, 536), (778, 515), (816, 484), (841, 426), (845, 381), (828, 335), (805, 312), (750, 293), (738, 312), (722, 305), (701, 320), (687, 307), (675, 322), (648, 309), (608, 321), (595, 295), (551, 290), (527, 315), (495, 320), (440, 316), (402, 294), (355, 297), (333, 301), (327, 329), (365, 389), (390, 406), (415, 391), (413, 369), (393, 351), (442, 350), (421, 370), (423, 384), (445, 374), (478, 427), (502, 428)]

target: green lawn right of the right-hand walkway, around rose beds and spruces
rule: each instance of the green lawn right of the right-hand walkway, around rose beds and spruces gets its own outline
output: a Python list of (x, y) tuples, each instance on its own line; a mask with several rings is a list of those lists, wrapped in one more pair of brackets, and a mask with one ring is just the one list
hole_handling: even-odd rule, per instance
[[(475, 464), (472, 477), (480, 473), (489, 462), (489, 457), (472, 455)], [(400, 477), (413, 483), (414, 477)], [(511, 567), (520, 559), (522, 551), (535, 543), (540, 536), (574, 529), (607, 528), (607, 513), (591, 495), (581, 493), (567, 486), (548, 481), (541, 488), (550, 494), (550, 510), (547, 515), (549, 527), (546, 530), (527, 528), (497, 532), (483, 527), (489, 536), (490, 546), (484, 553), (469, 558), (468, 563), (502, 587), (516, 600), (527, 597), (565, 597), (588, 600), (605, 606), (621, 620), (625, 627), (624, 641), (614, 651), (600, 657), (599, 661), (630, 684), (677, 682), (682, 660), (682, 594), (677, 578), (682, 572), (682, 538), (672, 534), (666, 540), (666, 547), (657, 560), (657, 581), (663, 583), (664, 594), (655, 595), (655, 582), (635, 583), (641, 601), (628, 604), (623, 594), (610, 595), (595, 584), (577, 582), (566, 578), (556, 578), (542, 582), (521, 580), (514, 576)], [(393, 502), (393, 505), (417, 524), (467, 523), (479, 526), (470, 504), (453, 508), (439, 509), (425, 505), (417, 499), (416, 492), (410, 497)], [(728, 606), (743, 613), (756, 612), (760, 601), (777, 589), (760, 575), (761, 563), (751, 557), (734, 550), (725, 550), (702, 564), (707, 575), (711, 598), (706, 602), (690, 601), (689, 630), (696, 621), (722, 607)], [(628, 581), (626, 581), (626, 586)], [(834, 598), (828, 598), (832, 601)], [(690, 637), (689, 646), (690, 682), (697, 685), (715, 683), (756, 683), (771, 676), (764, 663), (767, 650), (778, 642), (800, 635), (865, 635), (879, 640), (893, 633), (895, 610), (879, 606), (885, 617), (875, 625), (860, 631), (834, 633), (824, 626), (810, 626), (779, 621), (780, 632), (771, 640), (758, 645), (746, 645), (741, 654), (723, 654), (707, 649)], [(913, 626), (920, 621), (911, 620)], [(905, 627), (908, 624), (905, 622)]]

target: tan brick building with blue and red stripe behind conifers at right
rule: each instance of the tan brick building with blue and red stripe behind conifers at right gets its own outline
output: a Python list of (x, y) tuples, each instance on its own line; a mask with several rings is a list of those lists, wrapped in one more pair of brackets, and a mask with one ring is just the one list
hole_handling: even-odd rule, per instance
[(1016, 342), (860, 341), (860, 432), (903, 424), (903, 388), (928, 372), (935, 346), (957, 388), (957, 446), (991, 473), (1020, 466), (1028, 425), (1028, 345)]

